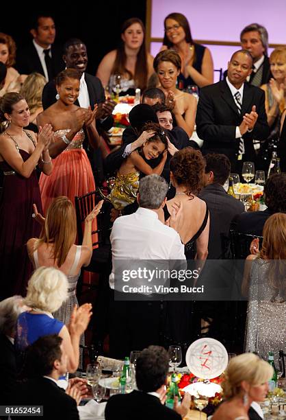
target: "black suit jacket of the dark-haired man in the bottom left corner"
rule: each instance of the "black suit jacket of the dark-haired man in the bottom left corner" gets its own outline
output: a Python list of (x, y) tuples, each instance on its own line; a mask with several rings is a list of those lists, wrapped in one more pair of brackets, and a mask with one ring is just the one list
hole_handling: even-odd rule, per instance
[[(38, 377), (19, 385), (15, 393), (14, 405), (43, 406), (42, 419), (79, 420), (75, 399), (46, 377)], [(15, 417), (15, 419), (18, 418)], [(23, 417), (23, 419), (27, 418), (29, 417)], [(31, 418), (34, 419), (34, 417)]]

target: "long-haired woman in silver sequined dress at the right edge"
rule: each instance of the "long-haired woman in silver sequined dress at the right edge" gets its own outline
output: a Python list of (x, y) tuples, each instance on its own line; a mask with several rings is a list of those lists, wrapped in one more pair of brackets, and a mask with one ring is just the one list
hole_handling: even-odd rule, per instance
[[(286, 215), (274, 213), (266, 220), (263, 242), (252, 241), (242, 292), (248, 294), (246, 351), (268, 358), (273, 351), (278, 366), (278, 351), (286, 347)], [(253, 261), (254, 260), (254, 261)]]

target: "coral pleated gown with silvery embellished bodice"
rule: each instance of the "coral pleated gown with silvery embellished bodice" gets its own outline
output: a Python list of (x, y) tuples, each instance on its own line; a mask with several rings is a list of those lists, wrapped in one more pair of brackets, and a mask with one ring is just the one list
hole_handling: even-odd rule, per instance
[[(57, 130), (55, 135), (67, 135), (69, 131)], [(75, 203), (75, 196), (94, 191), (94, 176), (86, 151), (83, 150), (83, 139), (84, 132), (81, 129), (68, 147), (53, 159), (52, 174), (41, 174), (39, 184), (44, 214), (47, 213), (53, 198), (66, 196)]]

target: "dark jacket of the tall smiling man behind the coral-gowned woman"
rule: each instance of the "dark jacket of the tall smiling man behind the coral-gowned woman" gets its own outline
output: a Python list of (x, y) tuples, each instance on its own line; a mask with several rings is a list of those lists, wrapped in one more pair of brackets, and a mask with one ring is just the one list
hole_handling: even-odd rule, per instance
[[(84, 80), (86, 80), (86, 86), (88, 86), (88, 95), (90, 97), (90, 106), (93, 109), (94, 104), (101, 104), (105, 102), (105, 93), (103, 85), (99, 78), (88, 73), (84, 73)], [(49, 106), (57, 102), (55, 95), (57, 95), (57, 90), (55, 89), (55, 81), (50, 80), (42, 91), (42, 107), (44, 109), (49, 108)], [(75, 105), (79, 106), (78, 100), (75, 102)], [(99, 124), (100, 128), (103, 130), (109, 130), (113, 125), (113, 118), (110, 115), (103, 122)], [(97, 124), (96, 124), (97, 126)]]

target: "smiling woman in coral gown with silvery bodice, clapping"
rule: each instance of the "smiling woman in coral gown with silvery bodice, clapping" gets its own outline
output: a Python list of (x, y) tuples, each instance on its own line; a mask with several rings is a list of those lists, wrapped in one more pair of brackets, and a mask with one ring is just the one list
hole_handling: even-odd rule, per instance
[(53, 157), (53, 174), (48, 178), (40, 177), (40, 191), (44, 214), (53, 198), (66, 196), (75, 204), (75, 196), (82, 196), (94, 191), (94, 176), (83, 150), (83, 124), (88, 133), (88, 140), (93, 148), (99, 145), (94, 111), (79, 108), (75, 101), (79, 96), (81, 73), (75, 69), (66, 69), (57, 75), (56, 87), (59, 99), (37, 118), (38, 127), (49, 122), (55, 131), (55, 141), (49, 152)]

